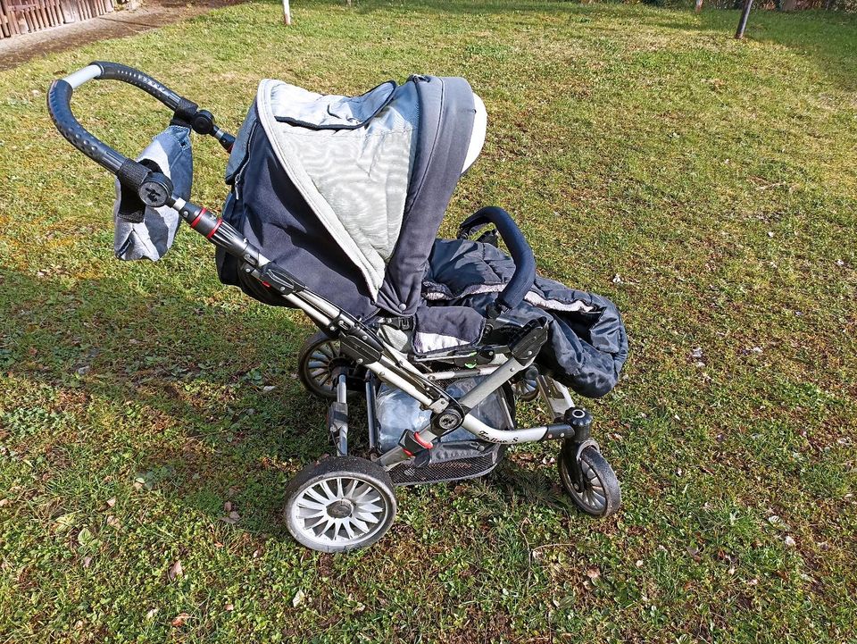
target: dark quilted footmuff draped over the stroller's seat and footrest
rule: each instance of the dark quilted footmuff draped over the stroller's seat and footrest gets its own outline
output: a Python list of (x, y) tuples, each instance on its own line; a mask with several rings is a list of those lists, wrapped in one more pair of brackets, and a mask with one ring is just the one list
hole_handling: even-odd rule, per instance
[[(438, 239), (428, 263), (422, 295), (429, 305), (470, 306), (483, 314), (515, 272), (503, 251), (461, 239)], [(555, 380), (591, 398), (616, 386), (628, 335), (606, 297), (537, 276), (524, 302), (506, 316), (520, 323), (548, 318), (549, 339), (537, 364)]]

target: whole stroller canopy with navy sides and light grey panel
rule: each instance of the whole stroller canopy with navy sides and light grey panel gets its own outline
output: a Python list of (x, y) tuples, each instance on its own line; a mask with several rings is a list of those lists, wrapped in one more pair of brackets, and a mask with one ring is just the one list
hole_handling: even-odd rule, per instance
[[(411, 315), (484, 114), (460, 78), (412, 76), (354, 97), (263, 80), (229, 158), (224, 218), (351, 313)], [(234, 261), (219, 266), (221, 280), (270, 302)]]

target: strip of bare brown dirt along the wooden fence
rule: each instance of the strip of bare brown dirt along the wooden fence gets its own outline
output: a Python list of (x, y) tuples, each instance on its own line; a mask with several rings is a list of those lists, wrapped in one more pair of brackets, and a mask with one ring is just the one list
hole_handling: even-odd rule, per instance
[(62, 52), (106, 38), (126, 38), (158, 29), (230, 4), (244, 0), (145, 0), (134, 10), (120, 8), (88, 21), (72, 22), (59, 27), (42, 29), (14, 38), (0, 40), (0, 70), (12, 69), (21, 63), (45, 54)]

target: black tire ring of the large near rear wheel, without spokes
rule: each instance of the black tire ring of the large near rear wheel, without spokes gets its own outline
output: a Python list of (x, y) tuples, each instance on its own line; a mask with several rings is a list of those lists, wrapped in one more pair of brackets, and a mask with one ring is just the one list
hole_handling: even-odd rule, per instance
[[(362, 539), (359, 543), (337, 545), (321, 544), (318, 541), (313, 542), (301, 531), (295, 514), (292, 512), (293, 506), (295, 506), (298, 498), (305, 489), (312, 487), (320, 481), (337, 478), (337, 476), (359, 479), (360, 481), (369, 483), (370, 486), (378, 490), (380, 498), (385, 503), (385, 512), (382, 520), (379, 522), (379, 527), (375, 528), (366, 539)], [(295, 477), (289, 481), (286, 488), (286, 504), (283, 508), (287, 529), (292, 537), (295, 538), (295, 541), (306, 548), (311, 548), (319, 552), (346, 552), (371, 546), (381, 539), (390, 529), (390, 526), (393, 525), (395, 511), (395, 488), (390, 475), (380, 465), (357, 456), (329, 456), (319, 464), (309, 464), (304, 467), (303, 470), (295, 474)]]

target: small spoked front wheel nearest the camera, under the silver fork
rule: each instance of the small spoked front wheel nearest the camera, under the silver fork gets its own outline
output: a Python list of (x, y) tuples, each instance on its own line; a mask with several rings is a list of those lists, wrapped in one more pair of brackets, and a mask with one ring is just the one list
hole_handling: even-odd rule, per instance
[(566, 440), (559, 457), (560, 480), (571, 500), (587, 514), (610, 516), (621, 505), (622, 493), (616, 473), (595, 447)]

